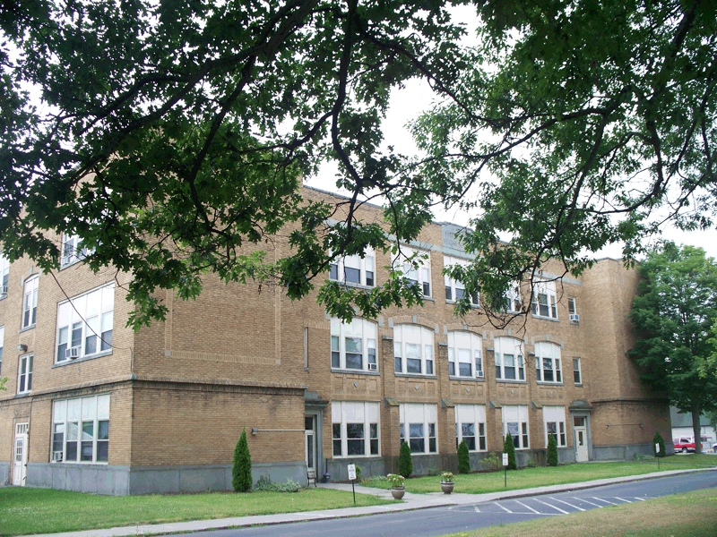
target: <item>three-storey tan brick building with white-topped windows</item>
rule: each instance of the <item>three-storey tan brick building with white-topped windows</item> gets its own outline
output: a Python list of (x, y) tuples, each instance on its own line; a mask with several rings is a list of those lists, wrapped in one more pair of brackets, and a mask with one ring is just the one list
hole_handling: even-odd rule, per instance
[[(359, 214), (381, 220), (377, 208)], [(416, 473), (427, 473), (455, 469), (460, 439), (475, 467), (502, 450), (507, 431), (521, 465), (544, 460), (549, 432), (560, 460), (578, 462), (649, 453), (655, 430), (670, 438), (667, 400), (626, 358), (635, 271), (618, 260), (580, 279), (549, 281), (562, 270), (546, 271), (532, 314), (497, 330), (479, 307), (454, 316), (463, 290), (442, 270), (471, 257), (457, 230), (431, 224), (402, 245), (428, 256), (408, 274), (422, 307), (350, 324), (328, 317), (315, 293), (292, 302), (281, 288), (210, 275), (194, 302), (162, 294), (166, 321), (135, 333), (125, 328), (129, 277), (92, 274), (76, 238), (62, 238), (54, 275), (0, 261), (0, 375), (9, 378), (0, 483), (117, 495), (229, 489), (244, 427), (255, 480), (299, 482), (307, 467), (334, 480), (350, 463), (364, 475), (391, 472), (402, 439)], [(330, 276), (380, 285), (391, 258), (369, 251)]]

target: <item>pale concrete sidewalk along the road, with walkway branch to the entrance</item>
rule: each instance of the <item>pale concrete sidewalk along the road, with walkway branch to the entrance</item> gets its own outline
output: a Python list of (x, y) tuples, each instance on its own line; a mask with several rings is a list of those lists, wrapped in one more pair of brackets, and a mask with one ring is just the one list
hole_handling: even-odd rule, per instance
[[(239, 528), (253, 525), (289, 524), (293, 522), (306, 522), (310, 520), (327, 520), (331, 518), (344, 518), (348, 516), (380, 515), (398, 511), (412, 511), (416, 509), (429, 509), (431, 507), (446, 507), (458, 505), (471, 505), (497, 499), (523, 498), (535, 494), (565, 492), (567, 490), (592, 489), (602, 485), (615, 483), (644, 481), (680, 475), (683, 473), (714, 472), (717, 468), (695, 470), (671, 470), (668, 472), (644, 473), (643, 475), (629, 475), (610, 479), (599, 479), (590, 482), (568, 483), (565, 485), (550, 485), (533, 489), (506, 490), (505, 492), (490, 492), (487, 494), (443, 494), (435, 492), (430, 494), (411, 494), (406, 492), (402, 503), (393, 503), (384, 506), (372, 507), (345, 507), (326, 511), (306, 511), (302, 513), (286, 513), (283, 515), (237, 516), (234, 518), (220, 518), (215, 520), (194, 520), (192, 522), (177, 522), (171, 524), (145, 524), (108, 528), (104, 530), (88, 530), (83, 532), (48, 533), (47, 537), (123, 537), (126, 535), (158, 535), (163, 533), (201, 532), (206, 530), (220, 530), (226, 528)], [(347, 483), (319, 484), (320, 488), (332, 490), (351, 490)], [(436, 485), (437, 488), (437, 485)], [(390, 490), (373, 489), (356, 485), (356, 492), (370, 494), (384, 499), (392, 499)], [(46, 537), (39, 535), (36, 537)]]

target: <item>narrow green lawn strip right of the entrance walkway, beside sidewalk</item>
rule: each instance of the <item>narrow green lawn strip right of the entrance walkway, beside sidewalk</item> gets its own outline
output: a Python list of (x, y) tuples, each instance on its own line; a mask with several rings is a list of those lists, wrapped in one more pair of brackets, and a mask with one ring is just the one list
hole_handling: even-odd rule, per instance
[[(680, 470), (686, 468), (704, 468), (717, 465), (717, 456), (689, 455), (669, 456), (661, 459), (660, 470)], [(606, 479), (610, 477), (625, 477), (627, 475), (640, 475), (642, 473), (657, 472), (655, 459), (616, 462), (616, 463), (586, 463), (582, 465), (561, 465), (557, 467), (523, 468), (508, 471), (508, 486), (504, 486), (503, 472), (456, 474), (454, 477), (454, 492), (480, 494), (484, 492), (497, 492), (500, 490), (531, 489), (546, 485), (559, 485)], [(417, 477), (406, 480), (406, 490), (409, 492), (428, 493), (440, 492), (439, 476)], [(386, 481), (364, 482), (368, 487), (390, 489), (391, 483)]]

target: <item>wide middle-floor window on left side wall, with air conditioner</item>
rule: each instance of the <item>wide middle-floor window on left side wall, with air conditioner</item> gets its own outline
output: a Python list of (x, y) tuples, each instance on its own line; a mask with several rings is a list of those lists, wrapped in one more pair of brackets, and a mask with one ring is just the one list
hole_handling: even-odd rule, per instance
[(110, 351), (114, 309), (114, 284), (57, 304), (55, 362)]

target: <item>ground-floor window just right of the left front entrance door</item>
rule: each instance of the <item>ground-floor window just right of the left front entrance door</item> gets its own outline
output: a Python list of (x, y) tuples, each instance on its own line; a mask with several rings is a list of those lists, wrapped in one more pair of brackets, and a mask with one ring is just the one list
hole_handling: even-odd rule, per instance
[(333, 456), (380, 455), (378, 403), (333, 401)]

